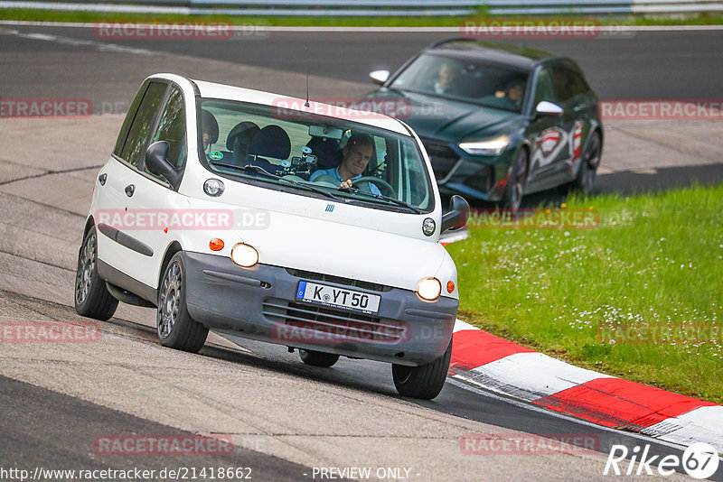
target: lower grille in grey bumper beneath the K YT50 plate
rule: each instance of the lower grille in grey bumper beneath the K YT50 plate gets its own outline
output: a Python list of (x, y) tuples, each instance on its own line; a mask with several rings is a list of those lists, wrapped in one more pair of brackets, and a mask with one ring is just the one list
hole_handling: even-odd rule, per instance
[[(348, 341), (348, 338), (374, 343), (396, 343), (407, 333), (402, 321), (381, 322), (379, 317), (355, 311), (334, 310), (295, 301), (269, 298), (263, 302), (264, 316), (288, 326), (321, 333), (319, 340)], [(291, 343), (292, 338), (287, 338)], [(299, 338), (303, 340), (304, 338)]]

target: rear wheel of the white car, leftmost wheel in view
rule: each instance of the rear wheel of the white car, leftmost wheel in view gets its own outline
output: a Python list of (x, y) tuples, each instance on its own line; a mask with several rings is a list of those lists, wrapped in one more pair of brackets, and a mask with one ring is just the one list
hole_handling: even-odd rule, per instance
[(110, 320), (118, 301), (108, 292), (106, 282), (98, 274), (98, 234), (91, 227), (78, 251), (78, 267), (73, 291), (75, 311), (95, 320)]

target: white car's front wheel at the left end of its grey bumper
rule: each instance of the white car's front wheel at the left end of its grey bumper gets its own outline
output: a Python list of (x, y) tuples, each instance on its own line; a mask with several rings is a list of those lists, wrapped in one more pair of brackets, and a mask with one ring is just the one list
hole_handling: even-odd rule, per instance
[(186, 268), (183, 255), (176, 253), (164, 269), (158, 285), (155, 316), (161, 345), (197, 353), (206, 342), (209, 329), (191, 318), (186, 307)]

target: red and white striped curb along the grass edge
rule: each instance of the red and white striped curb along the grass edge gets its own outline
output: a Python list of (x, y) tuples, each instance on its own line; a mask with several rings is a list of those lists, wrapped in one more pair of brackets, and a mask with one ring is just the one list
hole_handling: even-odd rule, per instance
[(456, 320), (449, 374), (599, 425), (723, 452), (723, 406), (569, 365)]

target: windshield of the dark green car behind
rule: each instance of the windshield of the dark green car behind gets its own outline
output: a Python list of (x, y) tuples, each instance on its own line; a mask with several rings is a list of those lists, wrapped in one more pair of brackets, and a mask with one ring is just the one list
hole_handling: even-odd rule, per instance
[(390, 87), (520, 113), (527, 79), (524, 70), (426, 53), (410, 63)]

